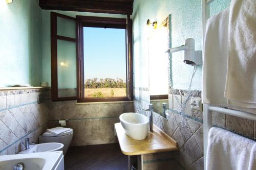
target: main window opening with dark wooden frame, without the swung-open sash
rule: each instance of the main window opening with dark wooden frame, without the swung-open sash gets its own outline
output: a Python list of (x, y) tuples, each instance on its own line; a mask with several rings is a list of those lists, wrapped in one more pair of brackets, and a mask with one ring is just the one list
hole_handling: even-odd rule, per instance
[(132, 100), (131, 20), (77, 16), (78, 102)]

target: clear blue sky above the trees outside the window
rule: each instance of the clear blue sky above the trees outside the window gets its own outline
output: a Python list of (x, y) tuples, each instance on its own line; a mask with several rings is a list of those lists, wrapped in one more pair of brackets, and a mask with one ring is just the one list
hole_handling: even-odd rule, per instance
[(125, 80), (125, 30), (83, 28), (84, 79)]

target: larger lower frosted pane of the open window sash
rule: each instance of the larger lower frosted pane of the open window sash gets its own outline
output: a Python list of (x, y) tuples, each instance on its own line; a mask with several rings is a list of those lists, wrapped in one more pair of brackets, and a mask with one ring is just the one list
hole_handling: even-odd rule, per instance
[(76, 96), (76, 43), (57, 40), (58, 97)]

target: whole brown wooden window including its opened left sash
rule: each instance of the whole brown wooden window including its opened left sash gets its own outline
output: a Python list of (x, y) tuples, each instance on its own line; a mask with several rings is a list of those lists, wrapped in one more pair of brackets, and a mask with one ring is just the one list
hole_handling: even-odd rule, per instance
[(133, 100), (132, 20), (51, 13), (52, 100)]

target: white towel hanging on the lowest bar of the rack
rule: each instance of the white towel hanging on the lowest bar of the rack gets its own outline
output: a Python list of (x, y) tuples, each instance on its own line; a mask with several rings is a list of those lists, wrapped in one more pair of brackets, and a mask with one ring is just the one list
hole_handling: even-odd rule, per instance
[(255, 151), (254, 145), (253, 140), (227, 130), (211, 128), (208, 137), (206, 169), (252, 170), (256, 161), (251, 157), (253, 155), (251, 151)]

